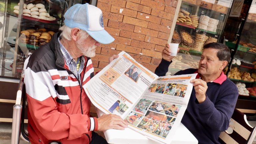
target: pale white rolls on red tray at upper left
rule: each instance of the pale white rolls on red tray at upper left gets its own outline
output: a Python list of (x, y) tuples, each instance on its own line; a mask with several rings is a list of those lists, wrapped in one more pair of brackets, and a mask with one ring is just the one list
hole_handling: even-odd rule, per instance
[[(19, 4), (17, 6), (14, 6), (14, 13), (19, 14)], [(56, 20), (55, 17), (50, 16), (49, 13), (47, 13), (45, 6), (43, 4), (24, 4), (23, 7), (23, 15), (33, 17), (33, 18), (38, 18), (38, 19), (43, 19), (43, 20), (49, 20), (53, 21)]]

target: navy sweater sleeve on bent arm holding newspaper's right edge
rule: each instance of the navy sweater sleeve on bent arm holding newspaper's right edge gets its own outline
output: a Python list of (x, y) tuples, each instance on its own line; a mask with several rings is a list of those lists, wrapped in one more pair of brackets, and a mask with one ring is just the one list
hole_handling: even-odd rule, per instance
[(200, 117), (214, 130), (227, 130), (237, 98), (238, 90), (236, 86), (232, 89), (226, 89), (226, 91), (220, 94), (215, 104), (206, 96), (205, 101), (199, 104)]

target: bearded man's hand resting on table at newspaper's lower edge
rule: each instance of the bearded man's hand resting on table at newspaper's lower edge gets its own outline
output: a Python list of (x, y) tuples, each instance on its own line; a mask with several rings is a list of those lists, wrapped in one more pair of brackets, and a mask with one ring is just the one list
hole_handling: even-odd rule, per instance
[(120, 116), (115, 114), (103, 114), (98, 118), (98, 131), (105, 131), (108, 129), (124, 130), (127, 128), (128, 123), (125, 122)]

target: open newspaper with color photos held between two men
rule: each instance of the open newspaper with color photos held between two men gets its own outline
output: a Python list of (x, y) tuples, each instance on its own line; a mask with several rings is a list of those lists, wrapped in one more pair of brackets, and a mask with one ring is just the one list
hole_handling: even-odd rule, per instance
[(128, 127), (160, 142), (171, 143), (197, 74), (158, 77), (122, 51), (83, 88), (93, 105), (117, 114)]

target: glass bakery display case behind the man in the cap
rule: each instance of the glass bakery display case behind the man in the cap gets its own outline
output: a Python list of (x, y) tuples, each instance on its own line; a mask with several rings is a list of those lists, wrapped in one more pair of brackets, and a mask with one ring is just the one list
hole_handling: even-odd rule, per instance
[(0, 33), (0, 77), (18, 79), (26, 57), (51, 40), (64, 24), (65, 11), (77, 3), (95, 5), (96, 1), (6, 0), (0, 3), (0, 10), (5, 14)]

